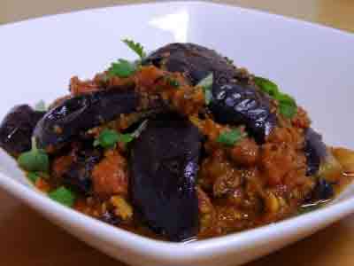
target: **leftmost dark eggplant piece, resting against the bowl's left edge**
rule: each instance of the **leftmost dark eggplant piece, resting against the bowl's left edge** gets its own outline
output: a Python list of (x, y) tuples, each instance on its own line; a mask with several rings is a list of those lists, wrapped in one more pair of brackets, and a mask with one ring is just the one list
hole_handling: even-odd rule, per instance
[(12, 107), (0, 125), (0, 146), (15, 156), (29, 151), (33, 130), (44, 113), (27, 105)]

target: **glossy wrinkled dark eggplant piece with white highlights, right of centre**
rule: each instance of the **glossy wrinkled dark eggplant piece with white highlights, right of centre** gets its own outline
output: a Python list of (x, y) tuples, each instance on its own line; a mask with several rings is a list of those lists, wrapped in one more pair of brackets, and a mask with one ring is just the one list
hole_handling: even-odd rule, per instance
[(263, 144), (276, 125), (269, 99), (242, 84), (213, 85), (210, 109), (215, 121), (244, 124), (258, 144)]

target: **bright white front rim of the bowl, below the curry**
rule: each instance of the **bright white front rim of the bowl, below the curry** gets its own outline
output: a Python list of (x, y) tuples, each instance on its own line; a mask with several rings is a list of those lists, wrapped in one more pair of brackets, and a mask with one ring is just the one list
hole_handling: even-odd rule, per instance
[[(7, 155), (8, 156), (8, 155)], [(159, 257), (165, 258), (184, 258), (195, 257), (199, 255), (210, 254), (214, 248), (227, 249), (233, 246), (240, 246), (246, 248), (247, 246), (254, 246), (255, 241), (264, 243), (271, 235), (287, 234), (294, 231), (294, 225), (298, 230), (306, 229), (306, 226), (313, 223), (320, 223), (327, 221), (332, 223), (345, 215), (350, 214), (354, 210), (354, 198), (334, 202), (325, 207), (321, 207), (304, 215), (297, 215), (289, 219), (282, 220), (278, 223), (271, 223), (260, 226), (255, 229), (235, 232), (212, 239), (201, 239), (187, 243), (168, 242), (158, 239), (150, 239), (138, 234), (135, 234), (119, 227), (114, 227), (108, 223), (101, 222), (89, 215), (81, 214), (70, 207), (65, 207), (54, 200), (50, 200), (41, 192), (36, 192), (33, 188), (19, 184), (18, 181), (12, 177), (5, 176), (0, 173), (0, 186), (5, 191), (12, 193), (12, 195), (25, 201), (31, 207), (40, 210), (50, 210), (51, 213), (62, 214), (63, 220), (67, 223), (76, 223), (81, 227), (96, 228), (96, 231), (90, 231), (95, 237), (102, 237), (111, 243), (123, 241), (127, 247), (138, 248), (144, 254), (151, 254), (151, 248), (158, 250)], [(188, 247), (188, 248), (186, 248)]]

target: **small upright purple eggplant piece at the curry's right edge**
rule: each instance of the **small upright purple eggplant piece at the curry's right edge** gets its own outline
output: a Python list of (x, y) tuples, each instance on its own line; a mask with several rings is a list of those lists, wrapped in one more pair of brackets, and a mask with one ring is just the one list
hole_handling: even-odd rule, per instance
[(306, 157), (306, 176), (314, 176), (319, 171), (321, 161), (327, 156), (327, 147), (322, 137), (312, 128), (304, 132), (304, 155)]

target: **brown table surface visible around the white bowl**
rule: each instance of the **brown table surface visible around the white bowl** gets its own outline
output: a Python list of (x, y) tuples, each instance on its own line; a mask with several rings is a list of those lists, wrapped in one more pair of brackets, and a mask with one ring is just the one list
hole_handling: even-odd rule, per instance
[[(0, 1), (0, 23), (25, 20), (44, 14), (134, 2), (138, 1), (32, 0), (25, 2), (4, 0)], [(257, 8), (354, 31), (354, 0), (228, 0), (215, 2)], [(1, 189), (0, 202), (1, 265), (77, 266), (81, 264), (96, 266), (99, 264), (127, 266), (74, 239)], [(247, 266), (352, 266), (354, 265), (352, 246), (354, 246), (354, 215), (319, 231), (308, 239), (283, 248), (256, 262), (251, 262)]]

